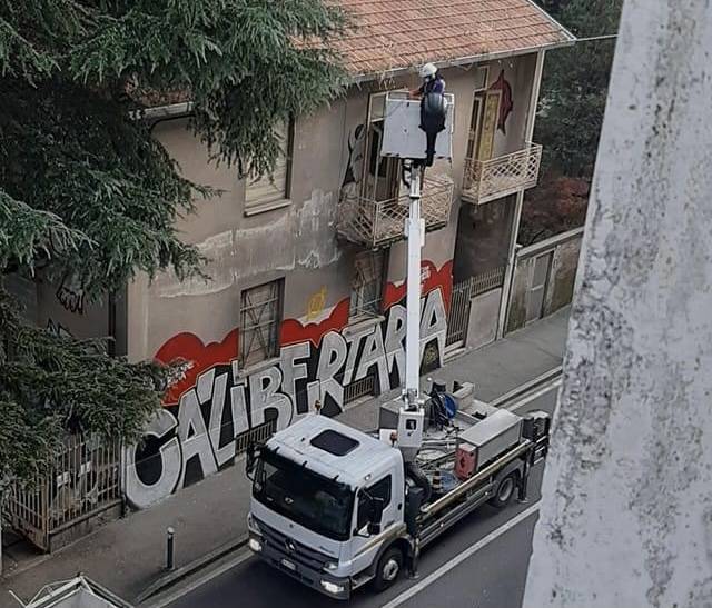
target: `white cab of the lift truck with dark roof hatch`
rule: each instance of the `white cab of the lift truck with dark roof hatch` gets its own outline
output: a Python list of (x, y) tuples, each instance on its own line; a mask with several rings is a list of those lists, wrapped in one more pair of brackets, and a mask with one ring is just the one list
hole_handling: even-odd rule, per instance
[[(378, 552), (403, 531), (400, 451), (330, 418), (277, 433), (251, 475), (250, 548), (323, 594), (346, 599), (375, 578)], [(402, 556), (382, 576), (395, 579)]]

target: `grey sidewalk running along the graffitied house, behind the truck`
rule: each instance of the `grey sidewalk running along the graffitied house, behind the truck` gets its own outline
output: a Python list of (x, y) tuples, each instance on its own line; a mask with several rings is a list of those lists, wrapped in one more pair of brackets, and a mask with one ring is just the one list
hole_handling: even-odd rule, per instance
[[(428, 377), (475, 383), (475, 396), (490, 401), (560, 366), (568, 327), (568, 308), (524, 328), (484, 349), (465, 352)], [(423, 378), (423, 386), (427, 385)], [(377, 427), (378, 405), (397, 391), (355, 405), (339, 416), (344, 422)], [(249, 481), (241, 462), (208, 477), (159, 505), (113, 521), (51, 556), (20, 562), (2, 579), (0, 608), (17, 606), (11, 589), (29, 600), (43, 585), (81, 571), (134, 601), (165, 572), (166, 528), (175, 529), (176, 568), (246, 534)], [(12, 552), (6, 552), (6, 569)]]

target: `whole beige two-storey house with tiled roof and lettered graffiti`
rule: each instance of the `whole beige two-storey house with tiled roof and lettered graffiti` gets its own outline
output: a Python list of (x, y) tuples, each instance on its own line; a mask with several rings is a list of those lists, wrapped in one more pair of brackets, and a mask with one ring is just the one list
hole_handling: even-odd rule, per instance
[[(188, 103), (148, 112), (185, 177), (220, 191), (178, 226), (209, 259), (208, 280), (140, 277), (91, 306), (69, 280), (17, 286), (34, 290), (39, 323), (109, 336), (132, 360), (178, 363), (152, 440), (127, 450), (135, 507), (231, 464), (236, 437), (399, 386), (408, 202), (380, 138), (386, 94), (414, 88), (425, 61), (437, 62), (456, 108), (452, 162), (429, 168), (423, 188), (422, 370), (505, 329), (523, 193), (542, 153), (531, 139), (544, 52), (573, 37), (528, 0), (473, 0), (466, 17), (429, 2), (449, 32), (429, 42), (422, 2), (343, 3), (363, 24), (342, 42), (354, 84), (284, 126), (271, 177), (244, 180), (211, 162), (187, 129)], [(413, 20), (388, 14), (396, 4)]]

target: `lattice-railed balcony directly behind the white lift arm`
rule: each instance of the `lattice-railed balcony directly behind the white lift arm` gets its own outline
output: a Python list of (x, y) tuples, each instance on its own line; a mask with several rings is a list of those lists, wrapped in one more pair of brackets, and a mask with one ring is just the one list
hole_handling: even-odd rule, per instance
[[(385, 247), (405, 238), (408, 196), (376, 201), (358, 195), (343, 193), (336, 230), (340, 238), (368, 248)], [(421, 217), (425, 229), (437, 230), (449, 220), (453, 183), (441, 176), (425, 176), (421, 198)]]

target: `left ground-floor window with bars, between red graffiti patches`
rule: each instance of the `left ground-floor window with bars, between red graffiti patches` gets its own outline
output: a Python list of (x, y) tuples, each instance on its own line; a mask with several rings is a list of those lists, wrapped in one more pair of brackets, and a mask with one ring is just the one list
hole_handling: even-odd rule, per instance
[(240, 301), (240, 365), (251, 365), (278, 355), (283, 280), (243, 291)]

